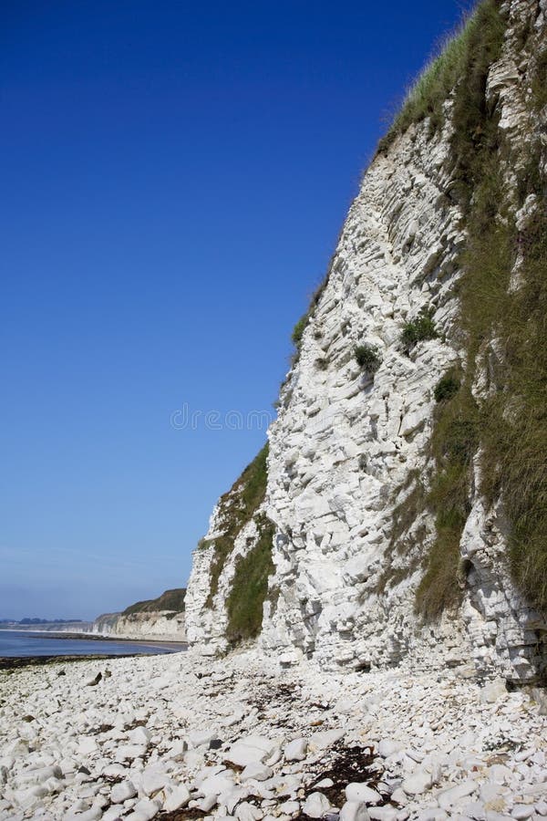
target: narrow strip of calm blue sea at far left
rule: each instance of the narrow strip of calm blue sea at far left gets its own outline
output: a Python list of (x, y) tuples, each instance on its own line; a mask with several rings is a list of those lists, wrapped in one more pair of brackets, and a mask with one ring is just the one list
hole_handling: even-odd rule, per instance
[(101, 641), (100, 639), (49, 639), (43, 633), (24, 630), (0, 630), (0, 658), (12, 656), (119, 656), (132, 653), (173, 653), (181, 647), (138, 643), (136, 641)]

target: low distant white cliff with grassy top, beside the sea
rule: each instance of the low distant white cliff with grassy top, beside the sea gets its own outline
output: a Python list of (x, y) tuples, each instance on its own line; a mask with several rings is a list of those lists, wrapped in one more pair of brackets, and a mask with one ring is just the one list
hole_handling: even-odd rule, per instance
[(119, 639), (185, 641), (184, 598), (181, 587), (158, 598), (138, 601), (121, 613), (104, 613), (95, 619), (92, 632)]

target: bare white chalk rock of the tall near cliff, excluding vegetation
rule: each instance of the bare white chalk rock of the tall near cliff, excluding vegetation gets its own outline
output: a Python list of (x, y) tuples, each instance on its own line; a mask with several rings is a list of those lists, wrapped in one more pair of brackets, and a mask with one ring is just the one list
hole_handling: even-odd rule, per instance
[[(532, 112), (530, 95), (534, 59), (547, 47), (545, 5), (501, 4), (503, 42), (485, 91), (496, 110), (508, 208), (524, 225), (538, 207), (533, 195), (522, 204), (516, 193), (526, 151), (544, 146), (546, 112)], [(441, 127), (433, 130), (428, 118), (411, 123), (366, 171), (281, 391), (264, 499), (232, 539), (213, 595), (219, 508), (194, 554), (188, 635), (211, 652), (230, 646), (226, 603), (263, 517), (274, 523), (274, 572), (259, 642), (282, 663), (308, 657), (325, 668), (367, 670), (410, 656), (421, 666), (472, 661), (516, 681), (543, 670), (547, 623), (511, 581), (501, 499), (487, 501), (480, 490), (480, 446), (453, 578), (458, 605), (433, 619), (416, 608), (436, 518), (428, 504), (412, 514), (410, 497), (420, 488), (427, 495), (435, 470), (436, 387), (450, 368), (465, 370), (469, 354), (459, 298), (468, 222), (454, 195), (453, 95), (442, 108)], [(535, 161), (544, 174), (544, 149)], [(514, 287), (518, 275), (519, 255)], [(435, 334), (406, 346), (401, 331), (418, 317), (428, 317)], [(375, 352), (374, 368), (357, 363), (359, 346)], [(490, 338), (470, 378), (479, 408), (495, 355)]]

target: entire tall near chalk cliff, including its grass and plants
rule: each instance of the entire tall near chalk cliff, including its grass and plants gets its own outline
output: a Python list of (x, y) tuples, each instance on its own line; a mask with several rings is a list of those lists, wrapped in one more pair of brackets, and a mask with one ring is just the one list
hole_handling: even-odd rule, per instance
[(480, 3), (381, 140), (194, 553), (191, 643), (545, 677), (546, 14)]

